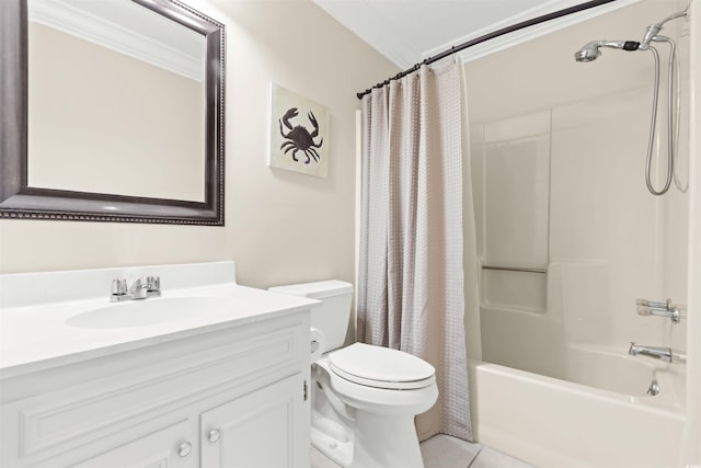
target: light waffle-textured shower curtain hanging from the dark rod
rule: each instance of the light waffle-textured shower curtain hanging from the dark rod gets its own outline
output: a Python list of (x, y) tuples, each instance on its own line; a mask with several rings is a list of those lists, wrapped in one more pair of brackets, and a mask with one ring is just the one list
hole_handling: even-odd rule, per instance
[(461, 84), (456, 64), (363, 99), (358, 340), (436, 368), (420, 440), (472, 441), (464, 347)]

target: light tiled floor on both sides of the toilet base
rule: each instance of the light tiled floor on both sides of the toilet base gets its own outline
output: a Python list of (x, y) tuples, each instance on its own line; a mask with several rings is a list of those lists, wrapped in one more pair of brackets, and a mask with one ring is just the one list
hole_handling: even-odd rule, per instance
[[(425, 468), (533, 468), (490, 447), (443, 434), (424, 441), (421, 452)], [(338, 465), (312, 448), (311, 468), (338, 468)]]

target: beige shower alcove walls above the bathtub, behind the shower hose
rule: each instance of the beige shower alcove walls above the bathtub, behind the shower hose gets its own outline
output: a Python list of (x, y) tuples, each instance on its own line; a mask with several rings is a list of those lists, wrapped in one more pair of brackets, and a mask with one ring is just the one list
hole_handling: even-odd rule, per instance
[[(616, 50), (590, 64), (572, 58), (579, 37), (636, 37), (640, 24), (677, 8), (640, 2), (466, 65), (483, 266), (543, 271), (482, 271), (485, 361), (553, 375), (527, 366), (563, 355), (552, 352), (562, 342), (624, 352), (631, 341), (686, 349), (686, 320), (670, 326), (639, 316), (635, 305), (668, 297), (685, 304), (687, 297), (688, 195), (674, 189), (654, 197), (645, 187), (652, 62), (645, 54)], [(682, 25), (669, 23), (668, 34)], [(688, 35), (678, 43), (683, 105)], [(516, 71), (510, 87), (493, 87), (495, 75)], [(685, 180), (687, 115), (682, 109), (678, 162)], [(660, 156), (664, 172), (666, 153)], [(502, 339), (508, 330), (510, 351), (490, 339), (495, 330)], [(542, 339), (518, 341), (535, 333)], [(542, 354), (529, 359), (530, 352)], [(513, 361), (502, 361), (506, 354)]]

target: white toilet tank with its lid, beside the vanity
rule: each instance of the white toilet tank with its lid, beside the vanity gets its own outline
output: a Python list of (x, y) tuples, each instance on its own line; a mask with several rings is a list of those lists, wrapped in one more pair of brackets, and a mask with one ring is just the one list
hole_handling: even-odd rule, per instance
[(321, 330), (324, 334), (326, 343), (323, 352), (343, 346), (353, 300), (350, 283), (329, 279), (276, 286), (268, 290), (321, 300), (321, 306), (314, 307), (311, 311), (311, 327)]

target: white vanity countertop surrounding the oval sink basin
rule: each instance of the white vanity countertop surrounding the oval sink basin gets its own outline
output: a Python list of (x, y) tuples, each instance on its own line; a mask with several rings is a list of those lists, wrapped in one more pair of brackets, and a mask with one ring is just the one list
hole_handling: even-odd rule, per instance
[[(165, 289), (162, 297), (141, 301), (170, 300), (179, 297), (218, 297), (227, 307), (193, 310), (177, 320), (136, 327), (85, 328), (70, 324), (70, 318), (104, 307), (107, 295), (72, 301), (51, 301), (0, 310), (0, 378), (134, 350), (188, 335), (251, 323), (303, 309), (319, 303), (237, 284), (215, 284), (193, 288)], [(229, 303), (231, 307), (229, 308)]]

